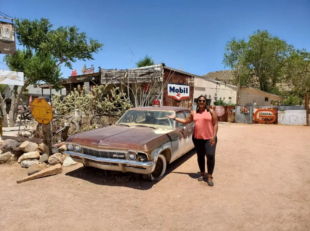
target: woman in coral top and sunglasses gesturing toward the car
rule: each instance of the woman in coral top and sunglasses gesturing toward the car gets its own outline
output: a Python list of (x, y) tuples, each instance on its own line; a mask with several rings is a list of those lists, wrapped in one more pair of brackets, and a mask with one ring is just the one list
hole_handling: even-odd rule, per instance
[(213, 186), (212, 173), (215, 165), (215, 148), (217, 143), (218, 120), (215, 111), (207, 109), (206, 97), (200, 96), (197, 99), (197, 110), (192, 111), (186, 119), (175, 118), (174, 115), (167, 116), (182, 124), (189, 124), (194, 121), (193, 143), (197, 151), (198, 166), (201, 177), (198, 181), (206, 179), (205, 156), (207, 156), (208, 185)]

